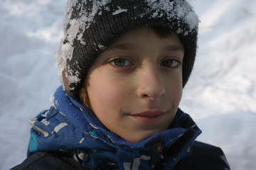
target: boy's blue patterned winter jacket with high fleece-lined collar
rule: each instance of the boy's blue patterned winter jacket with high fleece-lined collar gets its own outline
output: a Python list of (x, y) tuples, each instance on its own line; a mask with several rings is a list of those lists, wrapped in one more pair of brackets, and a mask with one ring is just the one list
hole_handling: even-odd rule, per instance
[[(28, 159), (14, 169), (183, 169), (185, 164), (181, 162), (198, 161), (198, 157), (191, 156), (193, 145), (196, 149), (203, 146), (201, 153), (206, 155), (218, 150), (220, 153), (214, 156), (218, 162), (208, 157), (208, 166), (214, 160), (223, 169), (224, 166), (229, 169), (220, 149), (194, 142), (201, 130), (180, 109), (168, 130), (132, 144), (107, 130), (93, 113), (65, 94), (62, 87), (53, 97), (54, 106), (30, 120), (33, 128)], [(192, 155), (195, 154), (199, 152)]]

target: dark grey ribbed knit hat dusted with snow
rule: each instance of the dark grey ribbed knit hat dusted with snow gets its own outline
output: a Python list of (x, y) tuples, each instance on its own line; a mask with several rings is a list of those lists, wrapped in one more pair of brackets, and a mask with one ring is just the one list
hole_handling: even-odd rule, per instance
[(183, 86), (196, 57), (198, 16), (185, 0), (69, 0), (60, 50), (55, 52), (63, 89), (77, 98), (98, 55), (121, 36), (145, 26), (178, 34), (185, 50)]

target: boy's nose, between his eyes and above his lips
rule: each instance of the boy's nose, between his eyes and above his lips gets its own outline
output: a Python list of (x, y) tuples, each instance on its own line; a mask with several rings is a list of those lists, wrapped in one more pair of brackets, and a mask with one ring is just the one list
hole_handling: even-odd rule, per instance
[(161, 96), (164, 96), (165, 89), (161, 79), (161, 73), (153, 66), (144, 67), (138, 73), (138, 89), (137, 95), (139, 98), (156, 101)]

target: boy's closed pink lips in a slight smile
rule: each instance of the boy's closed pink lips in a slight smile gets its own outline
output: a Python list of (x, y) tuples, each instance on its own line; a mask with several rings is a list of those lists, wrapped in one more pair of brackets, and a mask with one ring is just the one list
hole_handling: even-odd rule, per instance
[(139, 120), (142, 123), (157, 123), (164, 117), (164, 111), (145, 111), (131, 115), (133, 118)]

